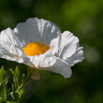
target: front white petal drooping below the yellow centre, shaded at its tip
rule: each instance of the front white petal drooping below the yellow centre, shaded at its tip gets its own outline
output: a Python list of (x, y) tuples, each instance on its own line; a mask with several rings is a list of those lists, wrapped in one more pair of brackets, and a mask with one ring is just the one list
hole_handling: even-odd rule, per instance
[(52, 56), (50, 52), (48, 51), (43, 55), (31, 57), (32, 63), (37, 69), (52, 71), (63, 75), (64, 78), (69, 78), (72, 74), (70, 66), (60, 58)]

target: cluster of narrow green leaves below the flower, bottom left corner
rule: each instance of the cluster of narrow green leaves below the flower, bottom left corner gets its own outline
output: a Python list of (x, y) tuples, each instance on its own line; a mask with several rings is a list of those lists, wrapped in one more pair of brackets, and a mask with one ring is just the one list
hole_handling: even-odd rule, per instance
[(9, 70), (13, 77), (11, 88), (7, 86), (9, 77), (5, 78), (6, 71), (4, 67), (0, 69), (0, 103), (18, 103), (25, 92), (24, 88), (21, 88), (25, 74), (21, 75), (18, 67), (16, 67), (15, 71), (12, 69)]

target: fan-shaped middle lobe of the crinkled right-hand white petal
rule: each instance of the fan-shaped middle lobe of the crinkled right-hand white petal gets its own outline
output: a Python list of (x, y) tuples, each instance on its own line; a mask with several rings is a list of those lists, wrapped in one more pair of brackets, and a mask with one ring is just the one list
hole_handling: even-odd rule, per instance
[(78, 38), (73, 36), (71, 32), (65, 31), (62, 33), (59, 42), (59, 57), (62, 59), (71, 57), (71, 55), (76, 52), (79, 45), (78, 42)]

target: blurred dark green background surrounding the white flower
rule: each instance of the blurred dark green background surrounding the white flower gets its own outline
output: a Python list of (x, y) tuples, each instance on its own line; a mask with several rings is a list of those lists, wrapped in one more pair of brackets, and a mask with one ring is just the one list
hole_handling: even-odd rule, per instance
[[(40, 71), (42, 80), (26, 86), (20, 103), (103, 103), (103, 0), (0, 0), (0, 31), (31, 17), (54, 22), (71, 31), (84, 47), (84, 60), (72, 77)], [(6, 69), (23, 64), (0, 59)]]

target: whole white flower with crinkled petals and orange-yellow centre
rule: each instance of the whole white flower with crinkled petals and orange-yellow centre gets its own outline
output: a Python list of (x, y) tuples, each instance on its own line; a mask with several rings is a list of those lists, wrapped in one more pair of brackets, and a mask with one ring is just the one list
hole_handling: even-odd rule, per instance
[(65, 78), (72, 74), (70, 67), (83, 60), (82, 49), (71, 32), (60, 33), (55, 24), (38, 18), (0, 33), (1, 58), (60, 73)]

